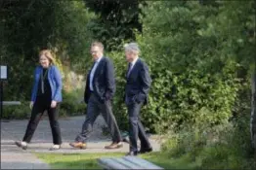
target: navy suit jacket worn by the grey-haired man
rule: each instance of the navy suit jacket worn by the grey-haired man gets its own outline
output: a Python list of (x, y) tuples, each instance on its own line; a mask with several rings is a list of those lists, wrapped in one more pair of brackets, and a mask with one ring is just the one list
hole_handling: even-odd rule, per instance
[(151, 85), (148, 65), (138, 58), (126, 79), (125, 96), (128, 99), (125, 101), (126, 104), (141, 102), (147, 104), (149, 87)]

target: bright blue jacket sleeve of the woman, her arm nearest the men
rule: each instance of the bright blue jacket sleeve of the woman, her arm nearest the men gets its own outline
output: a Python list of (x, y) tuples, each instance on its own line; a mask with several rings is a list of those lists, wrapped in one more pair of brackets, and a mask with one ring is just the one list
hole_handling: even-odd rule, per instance
[(56, 82), (56, 90), (54, 92), (53, 100), (60, 101), (63, 89), (63, 80), (61, 72), (57, 67), (54, 67), (54, 81)]

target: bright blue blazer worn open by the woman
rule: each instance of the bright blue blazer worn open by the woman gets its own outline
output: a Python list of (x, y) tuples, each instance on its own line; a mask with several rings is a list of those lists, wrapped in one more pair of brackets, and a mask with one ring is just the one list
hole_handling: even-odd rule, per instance
[[(32, 95), (31, 101), (35, 101), (37, 95), (37, 88), (40, 80), (41, 72), (43, 71), (42, 66), (37, 66), (34, 71), (34, 83), (32, 88)], [(51, 65), (48, 71), (48, 81), (51, 86), (52, 91), (52, 100), (57, 102), (63, 101), (62, 96), (62, 89), (63, 89), (63, 82), (62, 82), (62, 75), (59, 69), (55, 65)]]

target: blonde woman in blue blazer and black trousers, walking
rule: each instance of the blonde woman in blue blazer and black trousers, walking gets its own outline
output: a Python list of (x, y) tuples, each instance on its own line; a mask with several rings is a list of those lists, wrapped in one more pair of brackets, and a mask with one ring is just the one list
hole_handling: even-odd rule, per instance
[(39, 52), (40, 66), (34, 71), (34, 84), (30, 101), (31, 117), (22, 141), (16, 142), (21, 149), (27, 149), (37, 124), (47, 111), (53, 135), (54, 146), (50, 151), (59, 150), (62, 145), (61, 129), (58, 121), (60, 102), (62, 102), (62, 76), (54, 65), (54, 57), (49, 50)]

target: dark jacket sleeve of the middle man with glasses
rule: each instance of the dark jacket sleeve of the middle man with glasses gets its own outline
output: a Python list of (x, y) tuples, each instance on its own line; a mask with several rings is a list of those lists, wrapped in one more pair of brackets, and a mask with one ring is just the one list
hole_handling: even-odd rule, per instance
[(107, 65), (106, 65), (106, 83), (107, 83), (107, 90), (105, 93), (105, 98), (107, 100), (111, 99), (115, 92), (115, 80), (114, 80), (114, 68), (113, 63), (110, 59), (107, 58)]

